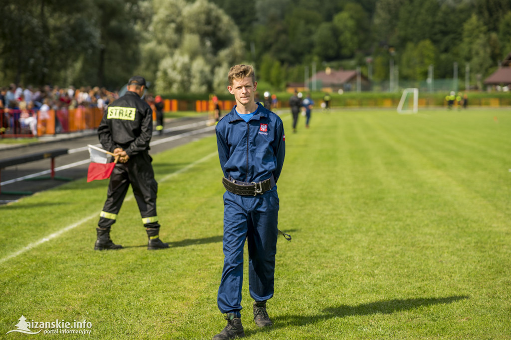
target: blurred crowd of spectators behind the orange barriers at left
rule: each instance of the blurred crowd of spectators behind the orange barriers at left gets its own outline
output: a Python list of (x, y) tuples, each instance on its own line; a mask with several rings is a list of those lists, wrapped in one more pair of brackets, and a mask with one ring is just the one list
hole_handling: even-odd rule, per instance
[(60, 88), (45, 85), (39, 88), (10, 84), (0, 88), (1, 132), (19, 126), (27, 126), (37, 134), (37, 113), (41, 119), (48, 117), (50, 110), (70, 110), (79, 106), (103, 109), (118, 98), (117, 92), (99, 87)]

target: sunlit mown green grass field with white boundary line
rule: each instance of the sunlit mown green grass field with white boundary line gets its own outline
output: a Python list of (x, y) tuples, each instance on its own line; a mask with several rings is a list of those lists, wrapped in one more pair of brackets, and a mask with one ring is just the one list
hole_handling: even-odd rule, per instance
[[(278, 240), (273, 328), (255, 327), (244, 277), (250, 339), (511, 338), (509, 110), (315, 110), (296, 134), (282, 118), (279, 228), (293, 239)], [(111, 235), (125, 249), (93, 250), (106, 181), (0, 207), (0, 338), (210, 339), (225, 326), (216, 140), (153, 158), (168, 250), (146, 250), (132, 196)], [(6, 334), (21, 315), (91, 333)]]

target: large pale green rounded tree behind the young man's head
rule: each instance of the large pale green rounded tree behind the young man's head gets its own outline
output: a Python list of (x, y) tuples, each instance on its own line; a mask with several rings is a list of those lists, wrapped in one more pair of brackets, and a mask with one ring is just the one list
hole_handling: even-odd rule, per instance
[(244, 44), (233, 20), (206, 0), (154, 0), (153, 4), (155, 14), (142, 49), (144, 56), (161, 59), (157, 67), (144, 63), (141, 70), (154, 72), (155, 91), (226, 91), (212, 74), (242, 61)]

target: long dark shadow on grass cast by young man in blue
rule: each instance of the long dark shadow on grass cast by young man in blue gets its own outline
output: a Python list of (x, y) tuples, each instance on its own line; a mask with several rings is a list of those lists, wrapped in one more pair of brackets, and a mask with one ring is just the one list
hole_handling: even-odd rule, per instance
[(287, 326), (305, 326), (323, 322), (332, 318), (344, 318), (350, 315), (371, 315), (371, 314), (391, 314), (402, 310), (411, 310), (423, 306), (448, 304), (464, 299), (469, 296), (451, 296), (446, 298), (419, 298), (419, 299), (393, 299), (371, 303), (363, 303), (357, 306), (332, 306), (324, 308), (322, 314), (318, 315), (280, 315), (272, 318), (273, 328)]

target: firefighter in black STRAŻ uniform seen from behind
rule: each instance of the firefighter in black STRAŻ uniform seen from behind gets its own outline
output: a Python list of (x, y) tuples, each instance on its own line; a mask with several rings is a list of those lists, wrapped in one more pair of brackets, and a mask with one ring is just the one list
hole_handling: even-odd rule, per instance
[(98, 128), (98, 135), (105, 150), (119, 157), (108, 183), (108, 193), (98, 222), (98, 239), (94, 249), (121, 249), (110, 239), (110, 228), (131, 184), (133, 195), (142, 215), (142, 222), (149, 237), (147, 249), (169, 248), (159, 237), (156, 214), (158, 183), (154, 179), (152, 158), (149, 156), (153, 118), (151, 107), (141, 99), (146, 80), (131, 77), (128, 91), (106, 108)]

